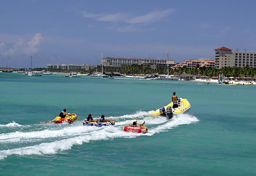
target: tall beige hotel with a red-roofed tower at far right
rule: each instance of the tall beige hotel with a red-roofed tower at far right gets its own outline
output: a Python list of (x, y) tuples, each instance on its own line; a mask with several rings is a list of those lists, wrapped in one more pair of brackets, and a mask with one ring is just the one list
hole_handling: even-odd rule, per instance
[(256, 53), (233, 51), (222, 46), (215, 49), (215, 68), (246, 66), (256, 68)]

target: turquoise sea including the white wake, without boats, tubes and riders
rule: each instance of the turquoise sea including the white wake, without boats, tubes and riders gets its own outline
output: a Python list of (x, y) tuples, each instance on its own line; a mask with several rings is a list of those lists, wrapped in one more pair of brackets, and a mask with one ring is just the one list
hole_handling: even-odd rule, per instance
[[(255, 176), (256, 86), (0, 72), (0, 176)], [(150, 116), (172, 93), (191, 109)], [(66, 108), (72, 124), (52, 120)], [(115, 126), (83, 126), (91, 113)], [(123, 131), (137, 120), (148, 133)]]

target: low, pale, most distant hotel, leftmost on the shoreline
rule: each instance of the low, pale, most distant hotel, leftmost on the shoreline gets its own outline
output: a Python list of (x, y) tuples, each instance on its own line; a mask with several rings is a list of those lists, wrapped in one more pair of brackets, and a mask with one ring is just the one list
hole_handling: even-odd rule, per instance
[(48, 69), (61, 69), (61, 70), (89, 70), (95, 68), (94, 65), (75, 65), (75, 64), (47, 64)]

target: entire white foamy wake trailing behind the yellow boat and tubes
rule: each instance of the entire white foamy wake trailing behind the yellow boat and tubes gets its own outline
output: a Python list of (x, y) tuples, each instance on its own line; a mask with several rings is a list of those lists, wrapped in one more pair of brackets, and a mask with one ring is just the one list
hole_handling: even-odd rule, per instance
[[(190, 114), (180, 114), (167, 121), (166, 118), (150, 116), (152, 111), (139, 111), (119, 117), (115, 126), (95, 127), (83, 126), (77, 120), (72, 124), (35, 124), (20, 125), (12, 122), (0, 125), (0, 159), (9, 155), (43, 155), (56, 154), (71, 149), (74, 145), (82, 145), (97, 140), (114, 138), (135, 138), (141, 135), (152, 136), (180, 125), (197, 123), (199, 120)], [(146, 122), (148, 133), (126, 133), (123, 126), (137, 120), (138, 124)], [(7, 132), (8, 131), (8, 132)], [(10, 133), (11, 131), (11, 133)]]

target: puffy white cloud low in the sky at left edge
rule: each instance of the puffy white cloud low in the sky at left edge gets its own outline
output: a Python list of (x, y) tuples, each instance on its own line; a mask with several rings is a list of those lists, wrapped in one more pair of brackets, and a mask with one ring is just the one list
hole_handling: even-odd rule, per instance
[[(10, 49), (6, 50), (0, 50), (3, 56), (14, 56), (19, 54), (33, 54), (38, 51), (38, 45), (43, 41), (43, 37), (41, 34), (36, 34), (31, 41), (24, 43), (22, 39), (19, 39), (17, 43), (14, 44), (14, 46)], [(2, 42), (3, 43), (3, 42)], [(0, 43), (0, 49), (2, 46), (5, 46), (5, 44)], [(6, 47), (5, 47), (6, 48)]]

